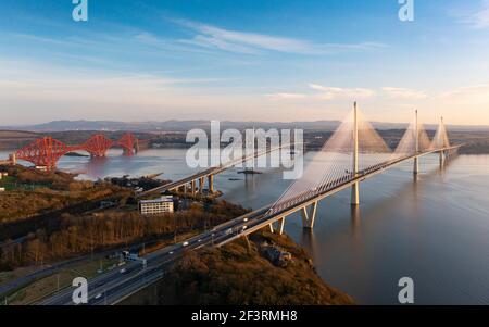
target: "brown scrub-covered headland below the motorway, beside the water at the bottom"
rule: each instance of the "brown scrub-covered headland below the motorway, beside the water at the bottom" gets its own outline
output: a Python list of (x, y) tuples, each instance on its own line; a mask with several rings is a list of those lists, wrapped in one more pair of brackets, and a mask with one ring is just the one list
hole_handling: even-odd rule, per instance
[[(354, 304), (321, 279), (312, 260), (289, 237), (261, 231), (250, 240), (250, 248), (241, 239), (221, 249), (188, 253), (163, 280), (123, 304)], [(288, 251), (292, 261), (286, 267), (274, 265), (263, 253), (264, 242)]]

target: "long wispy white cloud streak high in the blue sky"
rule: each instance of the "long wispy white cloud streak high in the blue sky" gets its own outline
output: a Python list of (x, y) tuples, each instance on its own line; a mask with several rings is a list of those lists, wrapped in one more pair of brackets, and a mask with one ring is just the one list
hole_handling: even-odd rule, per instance
[(179, 42), (181, 43), (246, 54), (256, 54), (263, 51), (334, 54), (343, 51), (367, 51), (385, 47), (376, 42), (316, 43), (294, 38), (230, 30), (186, 20), (174, 20), (174, 22), (197, 33), (191, 39), (180, 39)]

